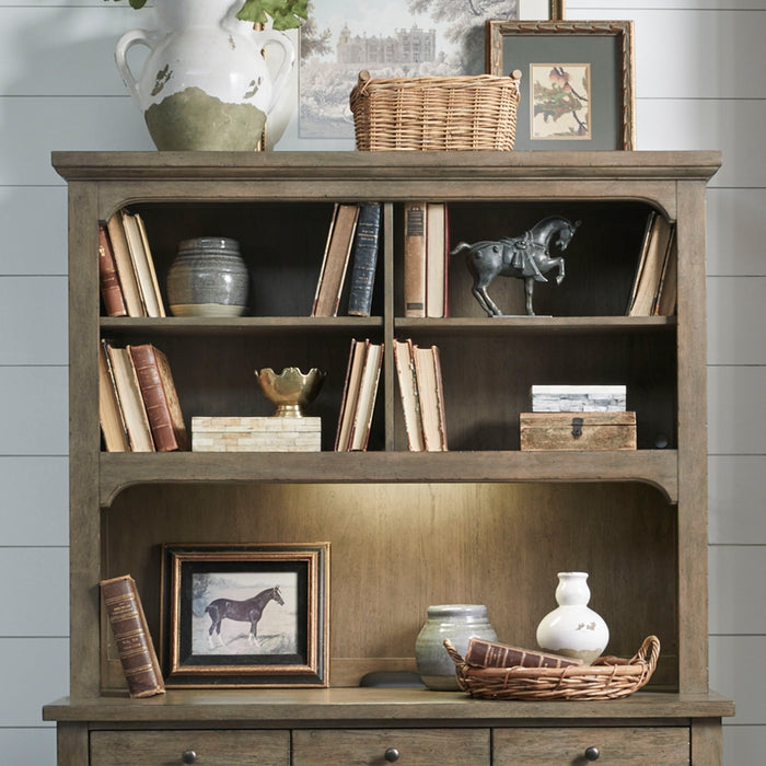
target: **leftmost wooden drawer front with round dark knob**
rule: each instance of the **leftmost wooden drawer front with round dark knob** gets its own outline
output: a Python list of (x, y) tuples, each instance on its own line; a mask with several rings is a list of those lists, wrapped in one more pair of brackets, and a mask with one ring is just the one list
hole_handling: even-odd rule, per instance
[(92, 731), (91, 766), (288, 766), (287, 731)]

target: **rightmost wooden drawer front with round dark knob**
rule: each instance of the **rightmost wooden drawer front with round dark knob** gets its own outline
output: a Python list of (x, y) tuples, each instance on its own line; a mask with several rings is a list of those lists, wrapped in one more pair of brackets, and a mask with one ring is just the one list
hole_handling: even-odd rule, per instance
[[(591, 750), (588, 759), (587, 751)], [(495, 766), (583, 766), (596, 755), (610, 766), (688, 766), (689, 730), (684, 727), (496, 729)]]

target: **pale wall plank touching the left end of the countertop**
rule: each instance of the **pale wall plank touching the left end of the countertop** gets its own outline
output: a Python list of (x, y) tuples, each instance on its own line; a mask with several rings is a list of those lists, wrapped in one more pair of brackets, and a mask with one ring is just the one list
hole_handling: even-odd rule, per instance
[(69, 639), (0, 638), (0, 677), (3, 727), (40, 726), (43, 706), (69, 694)]

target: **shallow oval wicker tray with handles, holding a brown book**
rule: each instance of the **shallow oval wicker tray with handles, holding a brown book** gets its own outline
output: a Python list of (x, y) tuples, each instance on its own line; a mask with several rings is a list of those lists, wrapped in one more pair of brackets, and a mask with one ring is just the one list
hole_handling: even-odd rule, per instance
[(660, 655), (657, 636), (646, 638), (630, 660), (601, 657), (592, 665), (567, 668), (479, 668), (465, 662), (449, 639), (444, 647), (461, 688), (483, 699), (618, 699), (649, 681)]

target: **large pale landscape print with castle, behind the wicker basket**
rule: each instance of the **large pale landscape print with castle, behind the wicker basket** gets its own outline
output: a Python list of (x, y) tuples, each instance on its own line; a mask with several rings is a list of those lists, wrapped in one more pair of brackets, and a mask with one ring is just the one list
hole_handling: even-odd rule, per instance
[(294, 35), (298, 61), (280, 107), (286, 124), (279, 113), (270, 117), (269, 136), (278, 149), (353, 149), (348, 100), (361, 70), (373, 78), (481, 74), (486, 20), (549, 19), (559, 2), (310, 2), (309, 20)]

